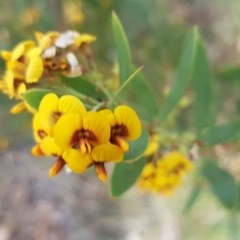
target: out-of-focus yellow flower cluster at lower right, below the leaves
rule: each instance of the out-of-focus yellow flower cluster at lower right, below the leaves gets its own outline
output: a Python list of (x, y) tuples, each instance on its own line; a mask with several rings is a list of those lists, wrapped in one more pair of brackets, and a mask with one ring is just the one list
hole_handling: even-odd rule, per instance
[(192, 167), (191, 160), (184, 154), (174, 151), (158, 158), (155, 162), (147, 163), (138, 180), (138, 185), (143, 191), (170, 195)]

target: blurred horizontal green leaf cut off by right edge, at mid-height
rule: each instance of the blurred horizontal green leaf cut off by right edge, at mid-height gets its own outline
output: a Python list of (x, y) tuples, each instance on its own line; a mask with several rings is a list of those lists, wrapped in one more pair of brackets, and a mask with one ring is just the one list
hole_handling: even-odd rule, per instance
[(207, 145), (215, 145), (240, 139), (240, 122), (231, 122), (207, 129), (201, 140)]

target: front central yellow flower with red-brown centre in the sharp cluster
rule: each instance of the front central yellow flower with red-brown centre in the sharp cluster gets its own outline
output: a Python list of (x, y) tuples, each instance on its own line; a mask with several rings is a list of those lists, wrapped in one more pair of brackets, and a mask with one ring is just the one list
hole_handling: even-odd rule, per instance
[(67, 114), (54, 129), (54, 140), (64, 150), (63, 159), (75, 173), (85, 172), (94, 165), (99, 178), (106, 180), (104, 163), (120, 161), (123, 153), (109, 143), (110, 125), (97, 112)]

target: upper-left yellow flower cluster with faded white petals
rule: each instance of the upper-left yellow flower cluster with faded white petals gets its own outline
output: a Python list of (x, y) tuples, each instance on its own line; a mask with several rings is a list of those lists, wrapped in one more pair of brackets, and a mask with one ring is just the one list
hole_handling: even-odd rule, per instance
[[(51, 80), (56, 73), (79, 76), (89, 68), (88, 45), (95, 40), (94, 36), (75, 31), (37, 32), (36, 39), (37, 43), (24, 41), (11, 52), (1, 52), (6, 71), (0, 80), (0, 90), (9, 98), (22, 100), (23, 93), (39, 86), (40, 79)], [(25, 108), (25, 102), (22, 101), (11, 112), (18, 113)]]

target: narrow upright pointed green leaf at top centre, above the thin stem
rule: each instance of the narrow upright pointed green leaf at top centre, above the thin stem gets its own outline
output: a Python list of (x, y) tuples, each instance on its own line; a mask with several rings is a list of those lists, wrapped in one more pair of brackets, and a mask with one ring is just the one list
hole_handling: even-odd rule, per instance
[(112, 29), (118, 57), (120, 85), (122, 85), (132, 73), (132, 61), (126, 34), (114, 12), (112, 13)]

